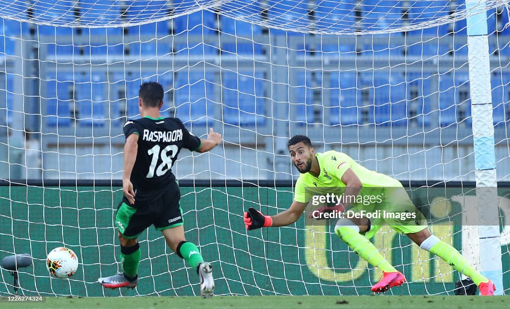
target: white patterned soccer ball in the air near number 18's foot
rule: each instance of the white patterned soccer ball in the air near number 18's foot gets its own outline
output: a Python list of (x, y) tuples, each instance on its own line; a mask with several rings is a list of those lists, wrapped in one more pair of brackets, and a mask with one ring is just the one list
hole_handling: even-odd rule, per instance
[(78, 257), (71, 249), (55, 248), (48, 254), (46, 268), (56, 278), (68, 278), (78, 269)]

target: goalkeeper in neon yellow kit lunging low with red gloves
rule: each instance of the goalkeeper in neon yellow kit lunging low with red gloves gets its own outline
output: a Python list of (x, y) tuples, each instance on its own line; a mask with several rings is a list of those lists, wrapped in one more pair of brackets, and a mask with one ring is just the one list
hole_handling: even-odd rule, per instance
[[(395, 209), (416, 209), (409, 199), (409, 195), (403, 191), (402, 184), (399, 181), (368, 170), (344, 153), (337, 151), (316, 153), (310, 138), (304, 135), (295, 135), (289, 140), (287, 146), (292, 163), (301, 174), (296, 182), (294, 201), (288, 210), (274, 216), (266, 216), (250, 208), (248, 212), (244, 213), (244, 223), (248, 230), (262, 227), (283, 227), (296, 222), (312, 198), (309, 194), (310, 191), (316, 190), (317, 192), (317, 189), (321, 188), (343, 188), (343, 196), (340, 199), (343, 203), (339, 203), (335, 207), (321, 207), (311, 213), (313, 218), (331, 217), (331, 211), (344, 212), (351, 205), (351, 202), (345, 202), (345, 199), (343, 199), (345, 196), (360, 196), (363, 194), (360, 193), (362, 189), (374, 191), (376, 188), (382, 190), (381, 188), (383, 187), (386, 190), (385, 192), (390, 192), (390, 194), (385, 195), (384, 201), (398, 201), (398, 205), (395, 207), (395, 205), (391, 205), (392, 203), (388, 203), (389, 207), (385, 207), (384, 203), (379, 203), (378, 205), (381, 205), (381, 209), (378, 211), (388, 210), (391, 212)], [(390, 189), (388, 190), (387, 188)], [(398, 195), (397, 199), (392, 200), (391, 192), (404, 192), (404, 194), (395, 193)], [(376, 205), (371, 205), (371, 207), (376, 209), (378, 205), (376, 203)], [(356, 211), (360, 207), (363, 206), (356, 206), (351, 210)], [(407, 212), (409, 211), (403, 211), (402, 213)], [(323, 216), (326, 213), (328, 216)], [(347, 216), (344, 216), (336, 223), (335, 233), (362, 259), (382, 270), (380, 281), (372, 287), (373, 292), (385, 292), (389, 288), (400, 286), (405, 282), (404, 275), (382, 257), (375, 246), (369, 241), (377, 230), (380, 229), (381, 222), (387, 222), (391, 228), (407, 235), (422, 249), (437, 255), (458, 272), (471, 277), (478, 286), (481, 295), (494, 295), (494, 284), (477, 272), (473, 266), (469, 265), (466, 259), (455, 248), (432, 235), (427, 228), (426, 221), (420, 224), (418, 220), (413, 219), (405, 223), (398, 223), (396, 219), (381, 221), (367, 217), (351, 216), (351, 218), (347, 218)]]

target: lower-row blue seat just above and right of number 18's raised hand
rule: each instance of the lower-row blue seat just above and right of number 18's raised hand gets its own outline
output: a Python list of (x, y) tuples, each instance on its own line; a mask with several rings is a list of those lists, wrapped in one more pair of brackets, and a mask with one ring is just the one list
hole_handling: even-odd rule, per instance
[(262, 125), (264, 122), (263, 73), (225, 72), (222, 76), (223, 121), (235, 126)]

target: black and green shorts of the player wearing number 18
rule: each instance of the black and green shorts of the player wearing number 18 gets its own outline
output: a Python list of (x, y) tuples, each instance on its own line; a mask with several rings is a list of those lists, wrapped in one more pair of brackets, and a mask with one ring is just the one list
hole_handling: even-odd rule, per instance
[(151, 224), (159, 231), (183, 225), (179, 206), (181, 191), (176, 182), (170, 182), (160, 191), (137, 190), (135, 194), (135, 204), (130, 204), (124, 196), (115, 215), (115, 224), (123, 237), (136, 238)]

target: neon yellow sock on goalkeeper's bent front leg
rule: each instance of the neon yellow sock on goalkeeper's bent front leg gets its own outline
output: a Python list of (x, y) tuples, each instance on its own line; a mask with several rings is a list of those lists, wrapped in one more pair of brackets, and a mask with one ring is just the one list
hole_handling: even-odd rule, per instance
[(356, 254), (374, 267), (385, 272), (396, 272), (397, 270), (381, 256), (375, 246), (366, 239), (354, 226), (337, 226), (335, 233), (340, 237)]

